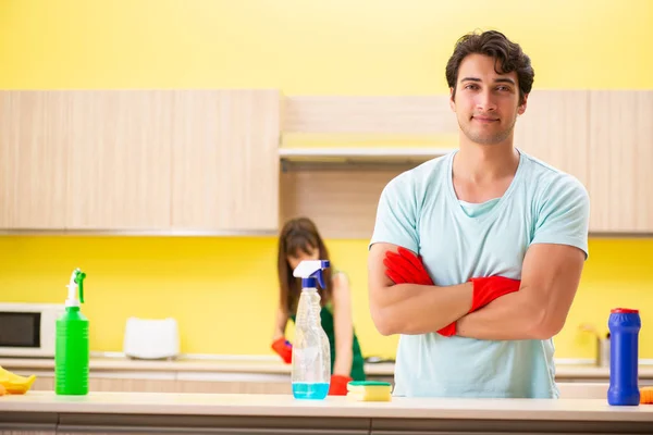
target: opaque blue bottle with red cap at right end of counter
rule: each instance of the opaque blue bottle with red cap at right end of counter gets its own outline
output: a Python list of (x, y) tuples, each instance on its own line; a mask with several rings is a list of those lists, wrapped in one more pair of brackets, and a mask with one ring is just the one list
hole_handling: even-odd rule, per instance
[(613, 406), (637, 406), (640, 402), (638, 339), (642, 326), (639, 310), (612, 310), (607, 326), (611, 333), (607, 402)]

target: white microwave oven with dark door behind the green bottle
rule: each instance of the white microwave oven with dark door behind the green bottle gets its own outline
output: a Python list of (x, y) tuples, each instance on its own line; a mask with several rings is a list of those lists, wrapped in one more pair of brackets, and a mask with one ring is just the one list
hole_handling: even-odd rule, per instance
[(53, 358), (64, 304), (0, 302), (0, 357)]

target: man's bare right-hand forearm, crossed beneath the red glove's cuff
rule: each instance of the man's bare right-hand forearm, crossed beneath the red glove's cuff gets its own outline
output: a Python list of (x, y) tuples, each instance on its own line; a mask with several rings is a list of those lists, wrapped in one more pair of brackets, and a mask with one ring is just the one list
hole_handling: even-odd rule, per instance
[(544, 339), (549, 337), (539, 327), (542, 312), (528, 291), (521, 289), (460, 318), (456, 333), (478, 339)]

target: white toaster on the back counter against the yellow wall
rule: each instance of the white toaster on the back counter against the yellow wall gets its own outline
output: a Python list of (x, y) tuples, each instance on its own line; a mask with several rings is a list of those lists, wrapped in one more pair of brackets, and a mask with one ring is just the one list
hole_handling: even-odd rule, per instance
[(180, 331), (176, 320), (127, 319), (123, 352), (126, 357), (145, 360), (177, 357)]

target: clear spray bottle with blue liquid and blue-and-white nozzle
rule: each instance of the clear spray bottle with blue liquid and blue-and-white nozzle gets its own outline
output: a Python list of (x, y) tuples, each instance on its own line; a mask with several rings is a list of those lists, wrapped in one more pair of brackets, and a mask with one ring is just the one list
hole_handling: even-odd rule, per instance
[(320, 320), (318, 283), (325, 288), (322, 271), (326, 260), (303, 261), (293, 275), (301, 278), (301, 295), (295, 320), (293, 344), (293, 396), (296, 399), (324, 399), (331, 381), (331, 348)]

